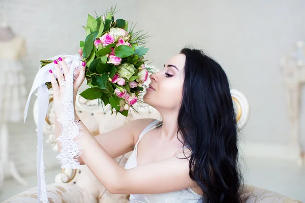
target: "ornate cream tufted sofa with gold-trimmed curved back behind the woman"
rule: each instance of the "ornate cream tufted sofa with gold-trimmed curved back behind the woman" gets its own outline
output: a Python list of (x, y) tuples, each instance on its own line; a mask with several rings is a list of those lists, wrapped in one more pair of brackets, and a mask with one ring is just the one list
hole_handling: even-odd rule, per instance
[[(246, 97), (237, 90), (231, 90), (232, 99), (238, 122), (238, 128), (242, 129), (250, 116), (250, 108)], [(52, 91), (50, 90), (49, 109), (44, 123), (44, 136), (49, 136), (48, 142), (58, 151), (55, 134), (54, 134), (54, 111), (52, 107)], [(37, 101), (34, 106), (34, 119), (37, 123)], [(130, 113), (128, 117), (120, 114), (111, 115), (109, 107), (98, 106), (97, 100), (86, 100), (81, 96), (77, 96), (76, 110), (77, 114), (88, 130), (95, 136), (97, 134), (107, 132), (120, 125), (123, 125), (133, 119), (138, 118), (155, 118), (161, 119), (160, 114), (154, 108), (148, 105), (136, 105), (139, 114)], [(114, 113), (115, 114), (115, 113)], [(115, 160), (124, 167), (131, 152), (121, 155)], [(102, 172), (101, 172), (102, 173)], [(63, 169), (62, 173), (56, 175), (55, 182), (47, 185), (47, 196), (50, 203), (127, 203), (129, 195), (127, 194), (111, 194), (90, 172), (86, 165), (81, 165), (77, 170)], [(254, 202), (282, 202), (292, 203), (300, 202), (291, 199), (282, 194), (272, 192), (263, 188), (251, 185), (245, 185), (242, 191), (242, 197), (248, 197), (245, 203)], [(37, 187), (21, 192), (3, 203), (34, 203), (37, 202)]]

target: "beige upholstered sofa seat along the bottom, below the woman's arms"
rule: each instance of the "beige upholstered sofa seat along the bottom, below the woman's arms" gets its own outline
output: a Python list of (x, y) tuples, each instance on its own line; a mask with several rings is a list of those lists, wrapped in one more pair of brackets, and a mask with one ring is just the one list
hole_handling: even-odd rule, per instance
[[(116, 161), (124, 166), (130, 153), (116, 158)], [(77, 175), (70, 183), (54, 183), (47, 186), (47, 195), (50, 203), (128, 203), (129, 195), (111, 194), (97, 178), (82, 165)], [(245, 203), (301, 203), (282, 194), (266, 189), (245, 185), (242, 197), (248, 197)], [(36, 203), (37, 188), (24, 191), (9, 198), (3, 203)], [(158, 202), (159, 203), (159, 202)]]

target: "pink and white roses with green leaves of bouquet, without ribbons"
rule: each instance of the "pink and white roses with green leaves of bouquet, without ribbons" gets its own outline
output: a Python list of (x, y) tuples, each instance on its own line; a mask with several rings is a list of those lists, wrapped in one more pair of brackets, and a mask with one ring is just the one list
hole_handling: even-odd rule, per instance
[[(138, 97), (143, 91), (142, 84), (153, 69), (145, 67), (144, 59), (148, 48), (143, 45), (149, 37), (142, 30), (134, 32), (124, 19), (114, 20), (115, 9), (104, 16), (88, 15), (85, 41), (80, 41), (82, 61), (86, 62), (85, 78), (90, 87), (80, 93), (85, 99), (99, 99), (104, 106), (124, 116), (132, 106), (141, 102)], [(142, 45), (142, 46), (140, 46)], [(41, 60), (41, 67), (53, 60)], [(76, 70), (74, 78), (79, 72)], [(51, 83), (46, 83), (51, 88)], [(135, 109), (134, 109), (135, 111)], [(113, 113), (113, 111), (112, 111)]]

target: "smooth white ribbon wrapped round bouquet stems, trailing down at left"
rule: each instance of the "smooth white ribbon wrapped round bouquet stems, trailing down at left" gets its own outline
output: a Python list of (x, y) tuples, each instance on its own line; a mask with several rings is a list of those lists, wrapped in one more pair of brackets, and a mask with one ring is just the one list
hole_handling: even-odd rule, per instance
[[(81, 57), (77, 55), (58, 55), (48, 60), (56, 60), (58, 57), (66, 57), (64, 60), (67, 63), (68, 67), (70, 67), (70, 71), (74, 71), (76, 66), (80, 66)], [(73, 67), (73, 69), (71, 69)], [(49, 63), (42, 68), (39, 69), (31, 89), (31, 92), (28, 95), (27, 102), (24, 109), (24, 123), (27, 116), (29, 101), (31, 100), (31, 96), (34, 91), (38, 89), (38, 126), (37, 126), (37, 138), (38, 138), (38, 146), (37, 146), (37, 178), (38, 178), (38, 199), (37, 202), (47, 203), (47, 195), (46, 195), (46, 183), (45, 183), (45, 174), (44, 174), (44, 161), (43, 161), (43, 124), (45, 121), (45, 117), (48, 110), (49, 105), (49, 91), (46, 82), (50, 82), (50, 73), (49, 70), (56, 76), (54, 63)], [(62, 70), (62, 73), (64, 71)], [(71, 96), (71, 95), (70, 95)], [(72, 98), (73, 99), (73, 98)], [(73, 118), (74, 119), (74, 118)]]

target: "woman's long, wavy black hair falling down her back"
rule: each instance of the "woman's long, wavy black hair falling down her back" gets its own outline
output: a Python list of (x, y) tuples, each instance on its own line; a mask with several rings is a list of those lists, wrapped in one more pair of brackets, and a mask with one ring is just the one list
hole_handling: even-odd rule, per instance
[(177, 125), (191, 150), (190, 177), (203, 190), (204, 202), (241, 202), (237, 123), (227, 75), (201, 50), (180, 53), (186, 63)]

